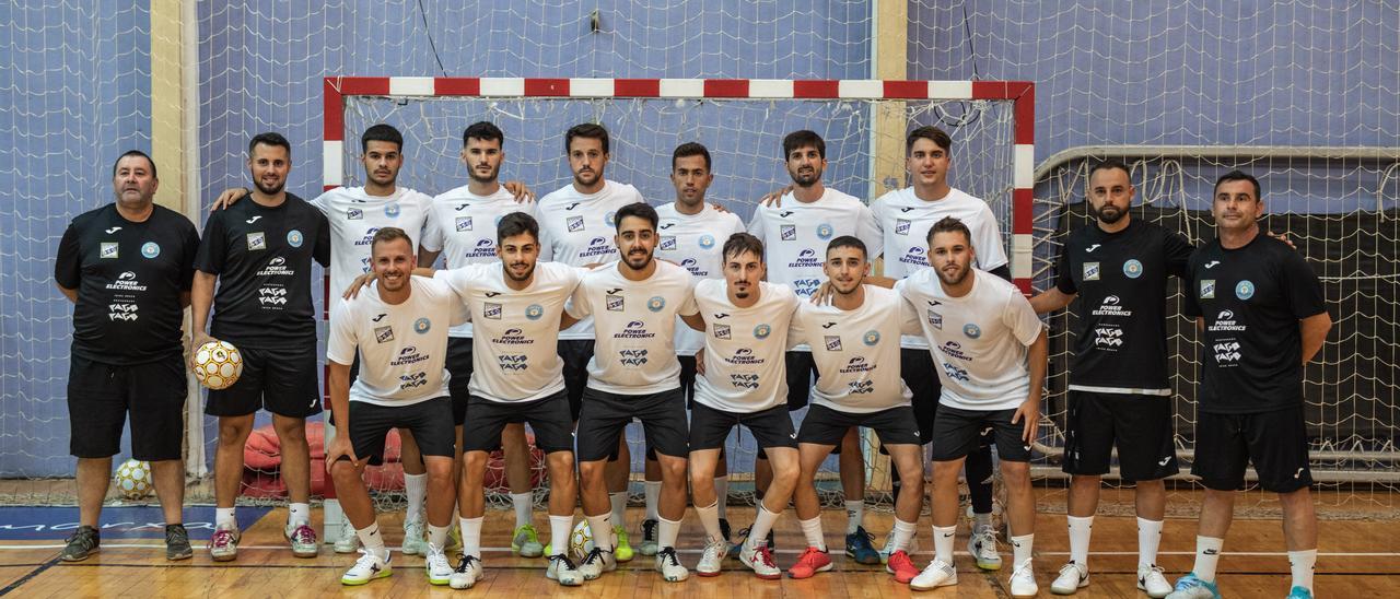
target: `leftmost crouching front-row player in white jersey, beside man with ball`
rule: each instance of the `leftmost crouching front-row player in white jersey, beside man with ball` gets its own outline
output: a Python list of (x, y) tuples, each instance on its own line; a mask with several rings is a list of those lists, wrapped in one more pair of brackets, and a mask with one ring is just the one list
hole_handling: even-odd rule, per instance
[[(326, 449), (326, 469), (340, 508), (364, 546), (363, 556), (340, 582), (363, 585), (392, 574), (389, 550), (361, 474), (365, 463), (382, 463), (389, 430), (407, 428), (428, 470), (428, 581), (445, 585), (452, 567), (442, 547), (456, 493), (452, 403), (444, 361), (448, 326), (465, 322), (466, 312), (448, 286), (412, 277), (416, 259), (403, 230), (381, 228), (370, 248), (377, 283), (356, 298), (336, 301), (326, 343), (332, 416), (336, 428), (344, 432)], [(364, 360), (351, 388), (350, 362), (357, 350)]]

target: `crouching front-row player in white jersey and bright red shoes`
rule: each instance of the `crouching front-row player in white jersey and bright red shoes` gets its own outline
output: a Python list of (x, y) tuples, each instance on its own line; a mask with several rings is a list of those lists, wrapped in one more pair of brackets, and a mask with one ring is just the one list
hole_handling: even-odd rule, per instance
[(802, 472), (794, 494), (806, 551), (788, 568), (792, 578), (832, 570), (822, 537), (822, 507), (816, 470), (853, 427), (869, 427), (889, 449), (904, 484), (895, 498), (895, 530), (886, 570), (907, 584), (918, 568), (906, 551), (924, 498), (921, 439), (909, 388), (900, 379), (900, 333), (920, 333), (917, 316), (899, 293), (865, 286), (869, 262), (865, 244), (839, 237), (826, 246), (830, 304), (802, 302), (792, 318), (790, 341), (812, 347), (818, 379), (812, 407), (798, 432)]

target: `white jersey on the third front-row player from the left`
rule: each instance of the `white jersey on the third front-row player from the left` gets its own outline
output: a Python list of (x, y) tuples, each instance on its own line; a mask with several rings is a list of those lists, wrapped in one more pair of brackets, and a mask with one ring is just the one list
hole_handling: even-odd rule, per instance
[(570, 315), (592, 315), (596, 327), (588, 386), (617, 395), (676, 389), (680, 386), (676, 318), (697, 312), (694, 277), (686, 269), (658, 260), (651, 277), (631, 281), (617, 266), (615, 262), (584, 274), (570, 302)]

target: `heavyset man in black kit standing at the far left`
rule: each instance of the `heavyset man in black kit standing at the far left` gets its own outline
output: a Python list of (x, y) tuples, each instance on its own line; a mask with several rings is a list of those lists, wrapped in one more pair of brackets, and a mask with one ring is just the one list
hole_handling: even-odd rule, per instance
[(157, 188), (151, 157), (140, 150), (122, 154), (112, 165), (115, 202), (74, 217), (59, 241), (53, 280), (74, 304), (69, 452), (77, 458), (78, 490), (78, 528), (59, 556), (63, 561), (81, 561), (98, 550), (98, 518), (127, 413), (132, 458), (151, 463), (165, 516), (165, 558), (193, 554), (181, 516), (186, 395), (181, 323), (199, 232), (153, 202)]

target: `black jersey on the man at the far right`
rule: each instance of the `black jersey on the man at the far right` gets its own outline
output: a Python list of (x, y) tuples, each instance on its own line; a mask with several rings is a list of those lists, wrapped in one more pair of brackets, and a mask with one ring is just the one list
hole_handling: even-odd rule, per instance
[(1326, 309), (1308, 262), (1259, 234), (1238, 249), (1211, 241), (1190, 269), (1184, 312), (1205, 320), (1200, 410), (1249, 414), (1302, 403), (1298, 320)]

